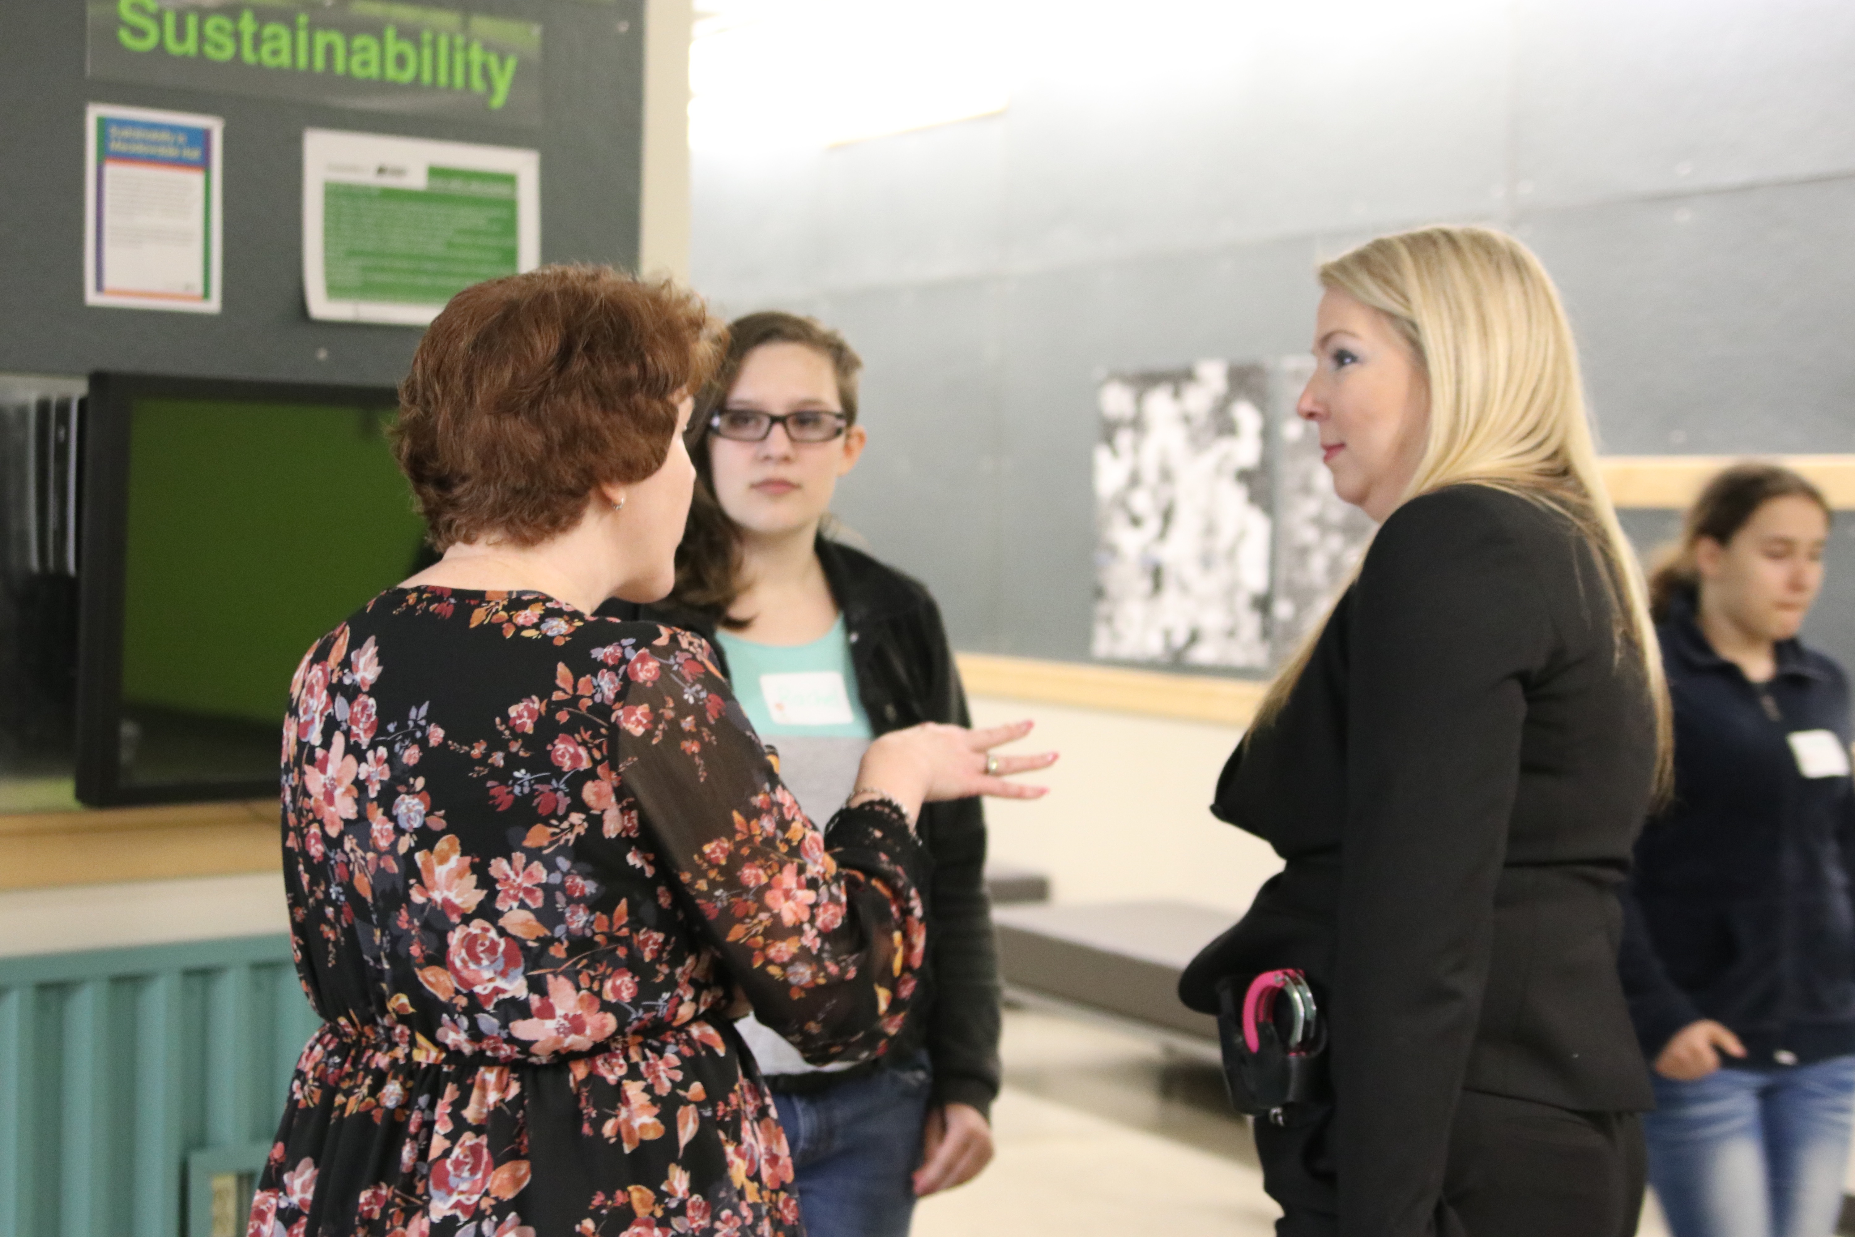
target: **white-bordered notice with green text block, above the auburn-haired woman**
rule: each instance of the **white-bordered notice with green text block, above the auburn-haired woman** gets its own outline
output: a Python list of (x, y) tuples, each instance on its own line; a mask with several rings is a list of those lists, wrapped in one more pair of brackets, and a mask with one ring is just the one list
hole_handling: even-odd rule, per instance
[(458, 289), (540, 263), (540, 152), (304, 130), (310, 317), (423, 326)]

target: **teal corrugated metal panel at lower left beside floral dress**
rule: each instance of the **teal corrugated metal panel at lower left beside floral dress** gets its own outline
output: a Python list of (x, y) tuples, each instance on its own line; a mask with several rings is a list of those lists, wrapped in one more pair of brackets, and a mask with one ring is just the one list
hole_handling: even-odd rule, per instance
[(288, 937), (0, 959), (0, 1233), (211, 1231), (317, 1026)]

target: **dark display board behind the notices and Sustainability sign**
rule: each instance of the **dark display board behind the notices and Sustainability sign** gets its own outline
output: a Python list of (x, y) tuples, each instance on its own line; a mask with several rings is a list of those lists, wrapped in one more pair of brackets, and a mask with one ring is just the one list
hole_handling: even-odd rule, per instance
[[(0, 6), (0, 371), (95, 369), (397, 382), (416, 326), (310, 321), (302, 299), (302, 130), (438, 137), (542, 152), (542, 260), (636, 263), (644, 109), (642, 0), (464, 0), (540, 22), (542, 122), (512, 128), (289, 98), (85, 76), (83, 0)], [(224, 117), (224, 308), (83, 304), (83, 108)]]

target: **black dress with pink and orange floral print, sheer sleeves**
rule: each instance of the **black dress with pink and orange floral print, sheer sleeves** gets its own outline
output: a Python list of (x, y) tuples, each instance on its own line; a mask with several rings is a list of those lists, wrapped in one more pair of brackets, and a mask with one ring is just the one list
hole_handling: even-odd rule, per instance
[(282, 803), (325, 1026), (250, 1237), (803, 1231), (725, 1011), (881, 1053), (922, 861), (887, 805), (825, 848), (699, 636), (390, 590), (299, 666)]

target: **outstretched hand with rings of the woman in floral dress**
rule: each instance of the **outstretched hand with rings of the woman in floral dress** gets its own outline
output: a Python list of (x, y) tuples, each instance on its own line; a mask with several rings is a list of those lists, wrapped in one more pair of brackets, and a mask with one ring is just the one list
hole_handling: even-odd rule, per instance
[[(913, 818), (922, 803), (966, 799), (976, 794), (1002, 799), (1035, 799), (1046, 786), (1026, 786), (1005, 781), (1015, 773), (1046, 770), (1055, 764), (1054, 751), (1030, 757), (1002, 757), (992, 749), (1024, 738), (1030, 721), (968, 731), (963, 725), (924, 721), (905, 731), (883, 734), (863, 755), (857, 772), (859, 790), (883, 792), (896, 799)], [(855, 796), (851, 796), (855, 797)]]

